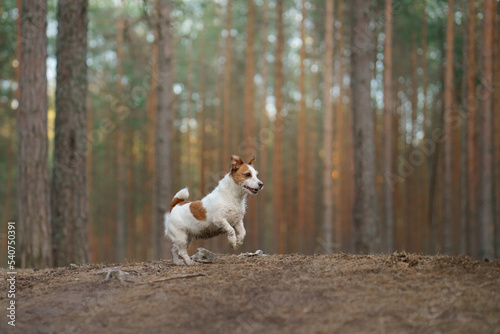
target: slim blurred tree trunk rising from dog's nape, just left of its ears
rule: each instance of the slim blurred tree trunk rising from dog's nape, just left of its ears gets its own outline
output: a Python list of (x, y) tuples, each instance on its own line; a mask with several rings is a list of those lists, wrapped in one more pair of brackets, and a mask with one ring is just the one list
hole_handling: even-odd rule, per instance
[(228, 0), (226, 8), (226, 56), (225, 56), (225, 71), (224, 71), (224, 149), (221, 159), (223, 170), (227, 169), (230, 152), (230, 113), (231, 109), (231, 12), (233, 0)]

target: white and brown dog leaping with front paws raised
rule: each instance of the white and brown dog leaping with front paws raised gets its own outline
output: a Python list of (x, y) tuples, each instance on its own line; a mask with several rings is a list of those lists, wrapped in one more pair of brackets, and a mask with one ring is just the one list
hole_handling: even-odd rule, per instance
[(247, 196), (257, 195), (264, 187), (264, 183), (257, 178), (254, 162), (255, 157), (245, 164), (240, 157), (231, 156), (231, 171), (200, 201), (187, 201), (188, 188), (174, 196), (170, 212), (165, 215), (165, 236), (173, 244), (174, 264), (195, 264), (187, 253), (189, 243), (194, 239), (226, 234), (229, 245), (234, 249), (243, 244)]

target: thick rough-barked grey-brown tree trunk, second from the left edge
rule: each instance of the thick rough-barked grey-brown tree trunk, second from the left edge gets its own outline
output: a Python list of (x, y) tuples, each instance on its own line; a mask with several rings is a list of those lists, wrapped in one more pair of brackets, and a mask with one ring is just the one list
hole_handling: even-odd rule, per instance
[(52, 177), (53, 264), (89, 260), (87, 213), (87, 0), (60, 0)]

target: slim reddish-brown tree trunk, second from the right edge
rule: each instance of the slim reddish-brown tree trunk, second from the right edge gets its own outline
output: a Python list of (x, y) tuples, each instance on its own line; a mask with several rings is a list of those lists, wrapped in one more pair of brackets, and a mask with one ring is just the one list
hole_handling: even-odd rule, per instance
[(467, 204), (467, 254), (472, 257), (478, 255), (478, 233), (477, 233), (477, 134), (476, 134), (476, 53), (475, 53), (475, 0), (469, 0), (469, 22), (467, 41), (467, 183), (468, 183), (468, 204)]

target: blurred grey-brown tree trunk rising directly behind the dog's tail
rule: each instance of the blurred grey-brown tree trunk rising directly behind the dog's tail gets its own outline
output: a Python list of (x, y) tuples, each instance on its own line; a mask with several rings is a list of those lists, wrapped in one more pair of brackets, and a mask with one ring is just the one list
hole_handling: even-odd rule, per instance
[[(158, 105), (156, 112), (156, 198), (152, 226), (153, 258), (163, 256), (163, 221), (172, 199), (172, 0), (158, 0)], [(161, 171), (161, 172), (160, 172)]]

